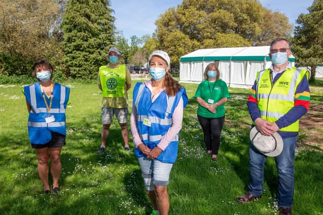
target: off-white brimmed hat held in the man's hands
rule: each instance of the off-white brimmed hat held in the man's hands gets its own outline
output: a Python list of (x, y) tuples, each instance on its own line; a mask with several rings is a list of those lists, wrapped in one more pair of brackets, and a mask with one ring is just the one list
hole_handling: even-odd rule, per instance
[(271, 136), (265, 136), (255, 126), (250, 131), (250, 140), (252, 145), (265, 156), (276, 157), (283, 151), (283, 139), (277, 132)]

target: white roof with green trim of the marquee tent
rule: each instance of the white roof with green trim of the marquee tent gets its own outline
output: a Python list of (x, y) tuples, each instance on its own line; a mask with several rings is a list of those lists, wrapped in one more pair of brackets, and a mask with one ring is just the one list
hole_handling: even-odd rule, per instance
[[(180, 58), (181, 62), (185, 61), (203, 61), (203, 60), (254, 60), (254, 61), (271, 61), (268, 56), (270, 46), (252, 46), (252, 47), (231, 47), (231, 48), (210, 48), (198, 49)], [(289, 61), (294, 62), (295, 57), (292, 55)]]

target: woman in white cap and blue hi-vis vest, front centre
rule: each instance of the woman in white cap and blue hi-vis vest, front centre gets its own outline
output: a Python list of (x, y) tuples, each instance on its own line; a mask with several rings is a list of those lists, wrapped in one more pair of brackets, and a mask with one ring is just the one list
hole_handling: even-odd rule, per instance
[(187, 95), (168, 70), (170, 57), (165, 51), (149, 56), (151, 80), (137, 83), (133, 91), (131, 132), (141, 175), (153, 211), (168, 214), (167, 185), (177, 158), (179, 131)]

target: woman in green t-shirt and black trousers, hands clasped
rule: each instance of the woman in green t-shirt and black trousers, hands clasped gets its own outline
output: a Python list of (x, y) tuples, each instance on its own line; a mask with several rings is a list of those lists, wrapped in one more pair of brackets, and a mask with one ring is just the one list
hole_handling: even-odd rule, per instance
[(215, 63), (208, 64), (203, 75), (204, 81), (194, 95), (198, 102), (197, 118), (204, 133), (206, 155), (212, 155), (212, 161), (217, 161), (225, 103), (230, 94), (227, 84), (219, 79), (220, 71)]

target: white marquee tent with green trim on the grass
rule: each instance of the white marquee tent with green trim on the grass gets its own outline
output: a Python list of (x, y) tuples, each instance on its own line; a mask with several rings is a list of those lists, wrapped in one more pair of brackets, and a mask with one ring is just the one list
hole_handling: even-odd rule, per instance
[[(257, 71), (272, 65), (270, 46), (198, 49), (180, 58), (180, 82), (200, 83), (207, 64), (215, 62), (230, 87), (250, 88)], [(295, 57), (289, 58), (295, 64)]]

